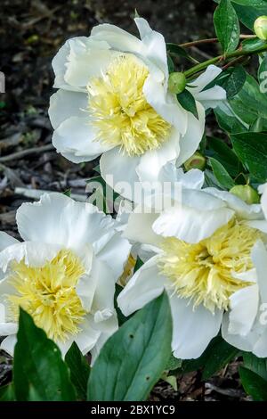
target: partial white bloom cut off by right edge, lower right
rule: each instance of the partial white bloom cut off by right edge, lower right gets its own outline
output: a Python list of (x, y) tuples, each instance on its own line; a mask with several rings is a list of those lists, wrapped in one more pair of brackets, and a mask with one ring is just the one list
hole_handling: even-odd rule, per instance
[[(267, 184), (259, 187), (262, 209), (267, 219)], [(267, 221), (252, 221), (254, 228), (267, 233)], [(265, 238), (265, 240), (264, 240)], [(231, 296), (228, 314), (223, 318), (223, 338), (239, 349), (253, 352), (256, 357), (267, 357), (267, 250), (266, 234), (255, 243), (251, 258), (254, 268), (239, 275), (241, 280), (250, 281), (247, 288)]]

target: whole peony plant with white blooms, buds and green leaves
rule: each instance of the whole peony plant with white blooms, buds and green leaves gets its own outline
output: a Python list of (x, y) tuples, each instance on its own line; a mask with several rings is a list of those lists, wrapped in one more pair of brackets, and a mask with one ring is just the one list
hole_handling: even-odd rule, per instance
[(96, 192), (23, 203), (21, 241), (0, 234), (0, 399), (141, 401), (234, 360), (267, 401), (267, 4), (215, 3), (213, 38), (136, 15), (139, 37), (100, 24), (55, 54), (53, 145), (99, 159)]

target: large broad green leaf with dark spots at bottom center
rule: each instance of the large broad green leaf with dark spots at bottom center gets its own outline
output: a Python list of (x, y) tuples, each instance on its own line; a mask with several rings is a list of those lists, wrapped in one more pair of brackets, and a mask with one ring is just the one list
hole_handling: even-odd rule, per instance
[(172, 317), (164, 292), (122, 325), (97, 357), (88, 382), (92, 401), (142, 401), (166, 369)]

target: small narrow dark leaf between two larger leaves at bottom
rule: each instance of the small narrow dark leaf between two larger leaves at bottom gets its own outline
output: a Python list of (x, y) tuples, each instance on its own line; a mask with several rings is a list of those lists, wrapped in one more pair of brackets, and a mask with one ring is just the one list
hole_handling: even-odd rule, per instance
[(86, 400), (90, 366), (75, 342), (69, 348), (65, 356), (65, 362), (69, 366), (70, 381), (77, 391), (77, 398)]

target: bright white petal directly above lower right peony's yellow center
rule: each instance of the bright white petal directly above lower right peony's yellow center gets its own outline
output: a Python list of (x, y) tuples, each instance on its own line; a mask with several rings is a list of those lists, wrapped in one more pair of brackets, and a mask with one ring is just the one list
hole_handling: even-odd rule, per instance
[(200, 210), (190, 207), (166, 209), (153, 224), (156, 234), (174, 236), (180, 240), (197, 243), (206, 239), (233, 217), (231, 209)]

